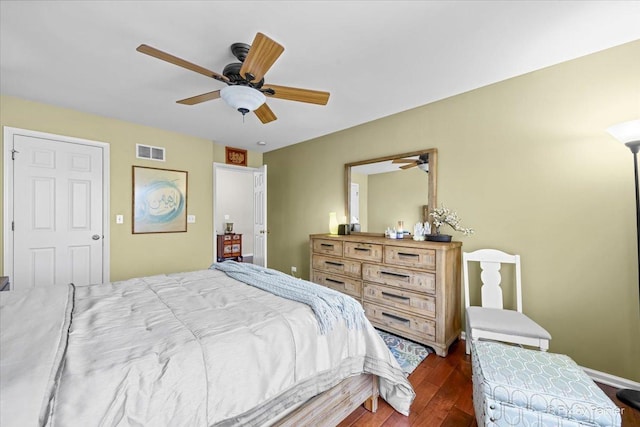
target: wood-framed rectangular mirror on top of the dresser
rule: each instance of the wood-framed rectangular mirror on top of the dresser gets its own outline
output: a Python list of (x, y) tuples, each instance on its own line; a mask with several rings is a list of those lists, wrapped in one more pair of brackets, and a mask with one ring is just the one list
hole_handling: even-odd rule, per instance
[(345, 164), (347, 222), (360, 224), (361, 232), (384, 233), (403, 221), (413, 233), (436, 206), (437, 172), (435, 148)]

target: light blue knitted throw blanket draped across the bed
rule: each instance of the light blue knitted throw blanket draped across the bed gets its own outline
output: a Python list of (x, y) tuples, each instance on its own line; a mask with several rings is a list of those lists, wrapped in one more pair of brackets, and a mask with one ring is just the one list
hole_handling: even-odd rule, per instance
[(360, 329), (365, 323), (360, 303), (333, 289), (249, 263), (225, 261), (209, 268), (279, 297), (307, 304), (318, 320), (322, 335), (333, 329), (339, 319), (344, 319), (349, 329)]

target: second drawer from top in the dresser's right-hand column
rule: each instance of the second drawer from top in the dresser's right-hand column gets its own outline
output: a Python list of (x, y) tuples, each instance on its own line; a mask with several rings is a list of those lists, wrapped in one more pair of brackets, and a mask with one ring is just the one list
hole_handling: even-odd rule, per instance
[(362, 264), (362, 278), (368, 282), (398, 286), (408, 291), (433, 294), (436, 275), (427, 271), (414, 271), (379, 264)]

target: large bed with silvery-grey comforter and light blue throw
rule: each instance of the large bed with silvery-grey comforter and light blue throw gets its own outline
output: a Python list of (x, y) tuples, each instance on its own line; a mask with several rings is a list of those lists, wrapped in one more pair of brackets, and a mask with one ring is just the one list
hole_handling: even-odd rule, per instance
[(245, 265), (0, 293), (0, 425), (335, 425), (378, 393), (409, 413), (355, 300)]

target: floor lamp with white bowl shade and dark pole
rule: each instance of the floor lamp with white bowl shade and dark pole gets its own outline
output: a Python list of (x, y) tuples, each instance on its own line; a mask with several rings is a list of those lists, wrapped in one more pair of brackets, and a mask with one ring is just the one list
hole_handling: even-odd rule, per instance
[[(607, 129), (614, 138), (624, 143), (633, 154), (636, 178), (636, 232), (638, 235), (638, 292), (640, 292), (640, 188), (638, 187), (638, 151), (640, 150), (640, 120), (620, 123)], [(618, 399), (640, 411), (640, 390), (623, 389), (616, 393)]]

